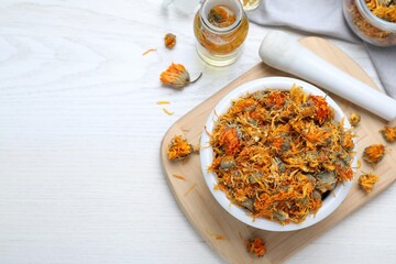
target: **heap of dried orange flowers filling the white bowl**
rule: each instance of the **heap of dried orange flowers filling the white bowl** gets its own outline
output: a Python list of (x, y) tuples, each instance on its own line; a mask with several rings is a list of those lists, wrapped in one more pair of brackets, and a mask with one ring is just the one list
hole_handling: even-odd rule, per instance
[(354, 134), (300, 87), (232, 100), (208, 133), (217, 189), (253, 218), (299, 223), (353, 178)]

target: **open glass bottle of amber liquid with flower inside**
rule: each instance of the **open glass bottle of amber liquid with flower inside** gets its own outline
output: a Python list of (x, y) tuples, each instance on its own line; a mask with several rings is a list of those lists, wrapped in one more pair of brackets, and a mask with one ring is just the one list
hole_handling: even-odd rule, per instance
[(206, 0), (194, 20), (197, 53), (209, 65), (230, 65), (238, 59), (248, 31), (240, 0)]

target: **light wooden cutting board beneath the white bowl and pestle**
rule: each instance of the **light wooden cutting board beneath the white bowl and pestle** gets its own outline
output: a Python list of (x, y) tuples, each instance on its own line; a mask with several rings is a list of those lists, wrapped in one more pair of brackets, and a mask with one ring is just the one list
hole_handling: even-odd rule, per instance
[[(364, 70), (331, 43), (318, 37), (306, 37), (300, 42), (340, 69), (377, 89)], [(241, 84), (266, 76), (290, 75), (271, 68), (264, 63), (257, 64), (175, 122), (165, 134), (161, 145), (161, 160), (165, 177), (182, 210), (205, 241), (230, 263), (284, 262), (354, 210), (365, 205), (373, 197), (384, 191), (396, 179), (396, 143), (386, 143), (378, 132), (386, 124), (386, 121), (371, 114), (359, 106), (349, 103), (330, 94), (348, 116), (354, 111), (359, 112), (362, 117), (361, 124), (355, 129), (359, 135), (358, 155), (360, 160), (365, 146), (374, 143), (386, 145), (387, 153), (384, 160), (375, 168), (362, 162), (362, 167), (354, 177), (354, 182), (356, 182), (358, 176), (361, 174), (360, 172), (374, 172), (380, 176), (374, 190), (366, 195), (355, 183), (346, 199), (331, 216), (312, 227), (298, 231), (263, 231), (251, 228), (234, 219), (215, 200), (207, 187), (200, 170), (199, 155), (193, 154), (187, 161), (173, 162), (167, 158), (166, 148), (170, 139), (176, 134), (182, 134), (191, 144), (198, 145), (200, 134), (204, 131), (204, 124), (217, 102)], [(175, 175), (184, 176), (185, 180), (175, 177)], [(244, 241), (256, 235), (262, 237), (266, 241), (267, 248), (265, 256), (260, 258), (250, 255), (244, 245)]]

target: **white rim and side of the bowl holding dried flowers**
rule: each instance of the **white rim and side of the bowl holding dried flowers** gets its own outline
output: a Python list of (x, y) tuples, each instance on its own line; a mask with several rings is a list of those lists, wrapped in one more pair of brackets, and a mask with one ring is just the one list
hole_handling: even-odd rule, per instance
[[(245, 96), (248, 92), (265, 90), (267, 88), (278, 89), (278, 90), (289, 90), (294, 84), (302, 87), (302, 90), (308, 95), (326, 97), (326, 100), (329, 103), (329, 106), (334, 109), (334, 119), (340, 121), (342, 118), (344, 118), (344, 128), (345, 129), (351, 128), (348, 118), (345, 117), (341, 108), (319, 88), (299, 79), (287, 78), (287, 77), (267, 77), (243, 84), (240, 87), (232, 90), (230, 94), (228, 94), (224, 98), (222, 98), (220, 102), (216, 106), (213, 111), (210, 113), (206, 122), (206, 130), (209, 133), (212, 132), (215, 122), (218, 119), (217, 117), (224, 113), (231, 107), (232, 99), (238, 99), (241, 96)], [(209, 144), (209, 141), (210, 138), (208, 133), (204, 131), (201, 135), (200, 144), (202, 146), (207, 146)], [(215, 196), (216, 200), (224, 208), (226, 211), (231, 213), (234, 218), (239, 219), (240, 221), (249, 226), (263, 230), (293, 231), (312, 226), (323, 220), (330, 213), (332, 213), (344, 200), (352, 186), (352, 182), (345, 182), (342, 185), (341, 184), (337, 185), (336, 189), (332, 191), (333, 195), (330, 194), (328, 197), (324, 198), (322, 202), (322, 207), (318, 210), (316, 216), (310, 215), (309, 217), (307, 217), (305, 221), (298, 224), (288, 223), (282, 226), (278, 222), (270, 221), (264, 218), (256, 218), (253, 220), (253, 218), (249, 216), (249, 212), (245, 209), (241, 208), (238, 205), (230, 204), (230, 200), (227, 198), (226, 194), (222, 190), (215, 189), (213, 187), (218, 183), (217, 176), (213, 173), (208, 173), (208, 167), (211, 165), (212, 161), (213, 161), (213, 148), (211, 146), (204, 147), (200, 151), (201, 169), (205, 180), (210, 191)], [(356, 156), (354, 157), (354, 161), (352, 163), (352, 167), (355, 166), (356, 166)]]

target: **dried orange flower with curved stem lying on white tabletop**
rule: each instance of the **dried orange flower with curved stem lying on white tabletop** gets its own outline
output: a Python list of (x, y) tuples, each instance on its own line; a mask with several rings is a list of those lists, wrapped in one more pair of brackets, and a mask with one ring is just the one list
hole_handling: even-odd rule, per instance
[(160, 76), (161, 82), (173, 88), (183, 88), (189, 84), (196, 82), (202, 73), (198, 76), (197, 79), (190, 80), (190, 76), (185, 66), (182, 64), (172, 64), (165, 72)]

